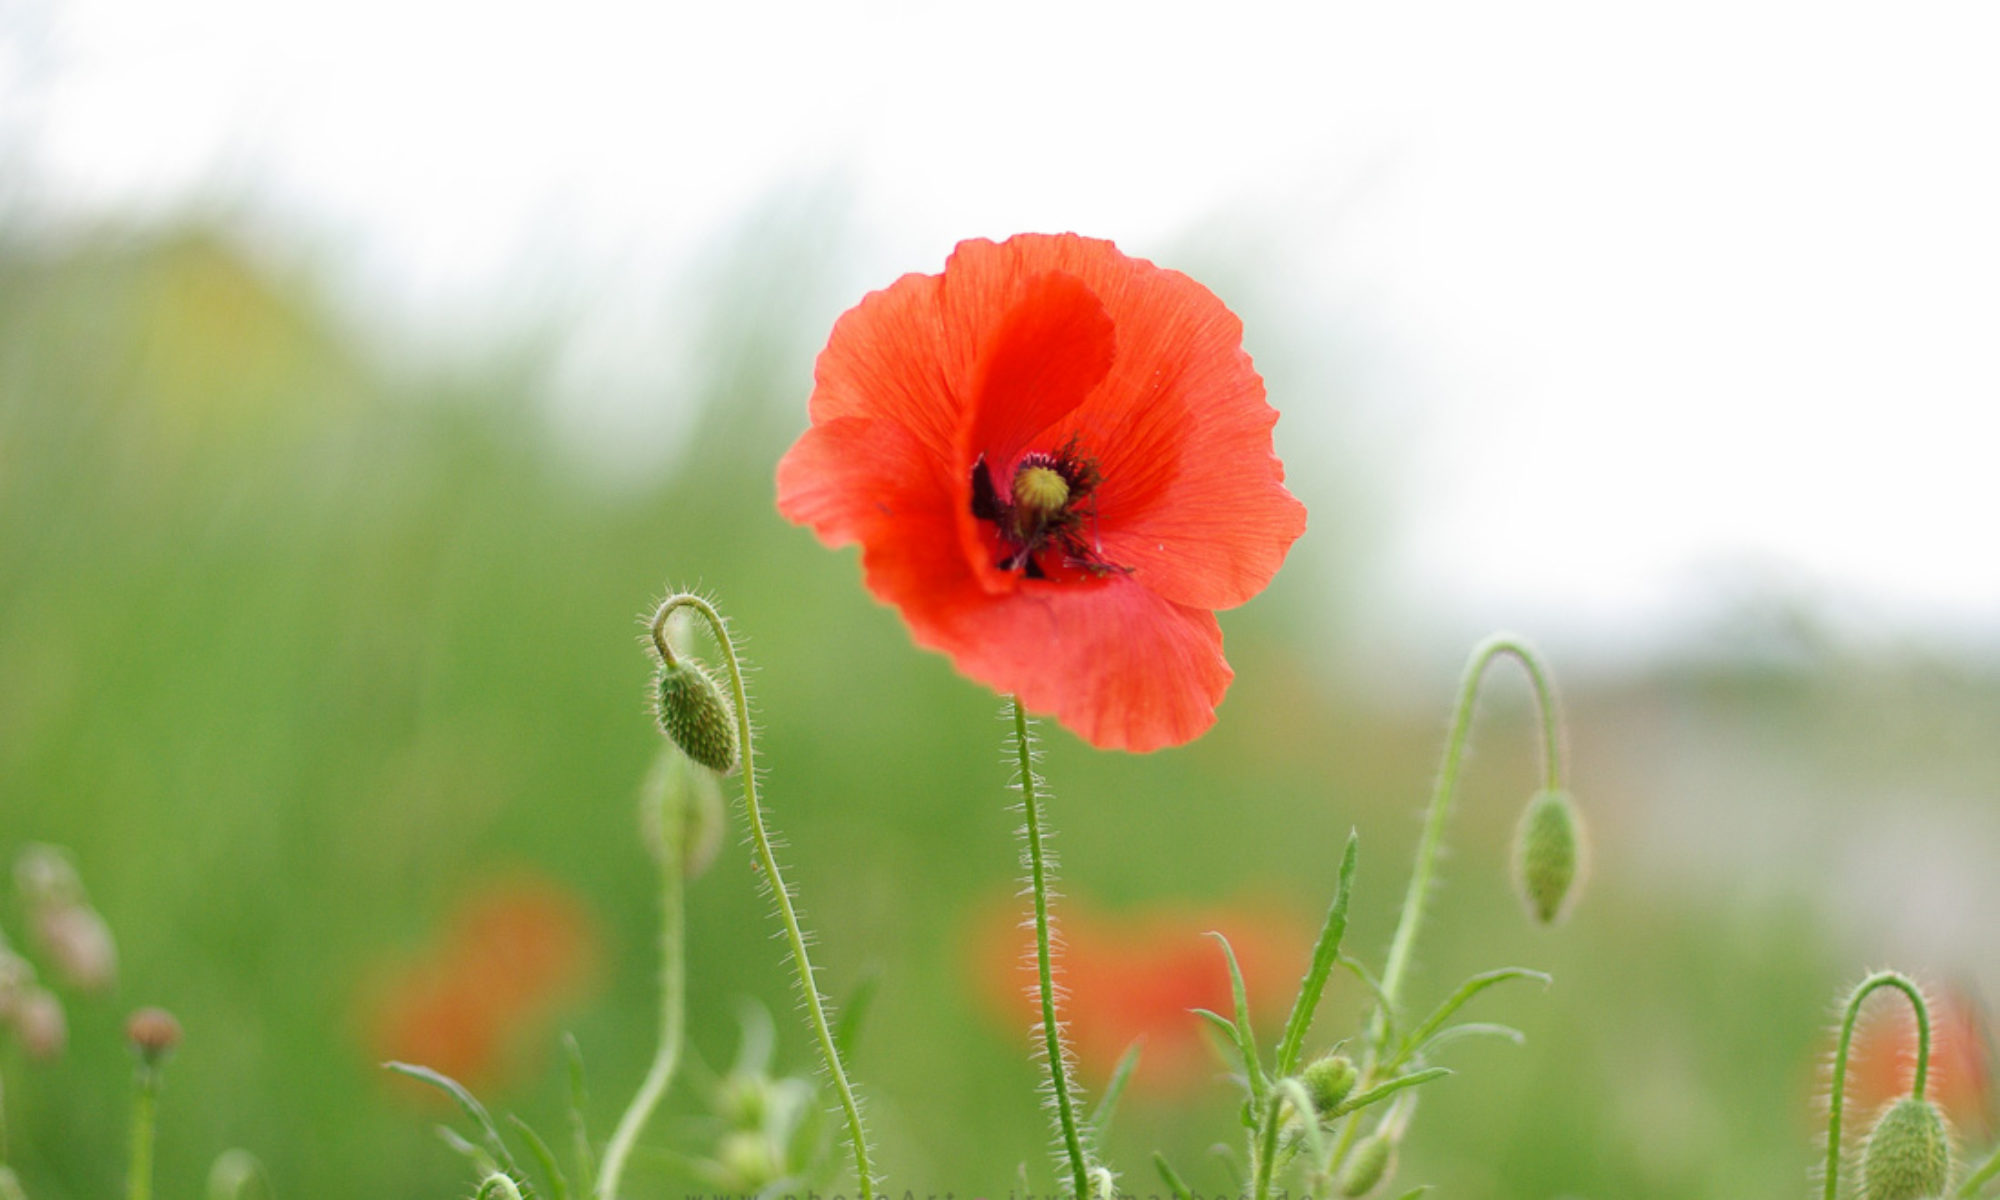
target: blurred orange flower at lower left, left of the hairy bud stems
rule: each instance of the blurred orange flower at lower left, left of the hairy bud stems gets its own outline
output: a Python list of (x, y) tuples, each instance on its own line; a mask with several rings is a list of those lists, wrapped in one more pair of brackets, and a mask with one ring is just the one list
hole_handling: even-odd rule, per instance
[(428, 950), (380, 976), (366, 1006), (370, 1052), (492, 1088), (528, 1058), (524, 1042), (586, 992), (596, 958), (574, 894), (536, 878), (486, 884)]

